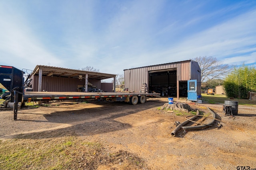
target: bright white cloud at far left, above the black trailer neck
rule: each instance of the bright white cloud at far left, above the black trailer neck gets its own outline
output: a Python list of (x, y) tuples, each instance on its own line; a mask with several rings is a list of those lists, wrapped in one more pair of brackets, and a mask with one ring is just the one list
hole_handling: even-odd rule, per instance
[(0, 51), (4, 64), (32, 69), (37, 64), (59, 66), (62, 63), (40, 43), (21, 14), (7, 12), (3, 6), (0, 11)]

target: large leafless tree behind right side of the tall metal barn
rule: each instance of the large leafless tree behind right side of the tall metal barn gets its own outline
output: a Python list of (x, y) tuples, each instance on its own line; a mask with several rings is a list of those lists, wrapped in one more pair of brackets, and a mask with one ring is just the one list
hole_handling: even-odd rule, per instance
[(223, 76), (226, 76), (232, 70), (231, 66), (222, 64), (215, 57), (196, 57), (192, 60), (196, 61), (201, 68), (202, 83), (216, 78), (222, 79)]

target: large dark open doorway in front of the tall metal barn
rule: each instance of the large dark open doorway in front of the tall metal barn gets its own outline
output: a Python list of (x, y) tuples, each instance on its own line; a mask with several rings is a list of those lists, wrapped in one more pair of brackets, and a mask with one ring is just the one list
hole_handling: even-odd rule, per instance
[(149, 72), (149, 91), (177, 97), (177, 70)]

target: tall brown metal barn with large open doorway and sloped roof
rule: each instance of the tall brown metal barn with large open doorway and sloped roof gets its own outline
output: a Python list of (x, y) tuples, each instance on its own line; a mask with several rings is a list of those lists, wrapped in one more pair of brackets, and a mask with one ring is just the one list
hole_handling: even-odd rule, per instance
[(124, 70), (125, 88), (140, 92), (146, 83), (149, 93), (160, 93), (161, 96), (186, 98), (188, 80), (197, 80), (197, 95), (201, 95), (201, 69), (196, 61), (187, 60), (144, 66)]

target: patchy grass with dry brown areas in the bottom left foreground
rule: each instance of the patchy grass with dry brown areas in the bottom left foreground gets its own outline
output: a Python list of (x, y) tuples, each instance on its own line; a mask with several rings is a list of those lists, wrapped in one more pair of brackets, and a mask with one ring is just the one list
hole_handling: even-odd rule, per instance
[[(35, 139), (38, 135), (43, 138)], [(142, 158), (126, 151), (110, 152), (101, 143), (77, 136), (52, 138), (44, 135), (18, 135), (20, 139), (0, 141), (0, 169), (83, 170), (102, 165), (148, 169)]]

